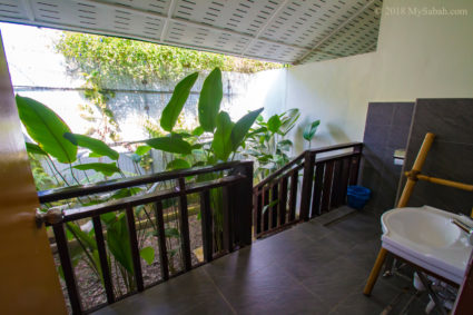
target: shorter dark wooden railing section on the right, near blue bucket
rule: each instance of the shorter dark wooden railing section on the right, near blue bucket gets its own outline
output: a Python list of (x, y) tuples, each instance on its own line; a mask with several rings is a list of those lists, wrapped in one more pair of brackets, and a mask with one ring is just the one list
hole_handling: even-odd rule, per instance
[(357, 183), (362, 149), (363, 144), (351, 142), (306, 150), (257, 184), (254, 235), (275, 233), (345, 204), (347, 186)]

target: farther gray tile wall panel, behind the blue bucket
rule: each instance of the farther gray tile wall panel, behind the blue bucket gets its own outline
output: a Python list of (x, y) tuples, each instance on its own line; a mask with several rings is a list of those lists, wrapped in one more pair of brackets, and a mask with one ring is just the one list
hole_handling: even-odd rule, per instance
[(394, 165), (396, 149), (407, 147), (414, 102), (371, 102), (366, 117), (362, 186), (372, 189), (366, 209), (377, 214), (395, 205), (401, 166)]

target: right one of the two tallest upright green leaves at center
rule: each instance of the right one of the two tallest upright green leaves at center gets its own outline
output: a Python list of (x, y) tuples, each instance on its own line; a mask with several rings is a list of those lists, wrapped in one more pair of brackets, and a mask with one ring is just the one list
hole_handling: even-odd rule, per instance
[(215, 68), (204, 81), (198, 104), (199, 122), (205, 131), (214, 132), (223, 97), (221, 72)]

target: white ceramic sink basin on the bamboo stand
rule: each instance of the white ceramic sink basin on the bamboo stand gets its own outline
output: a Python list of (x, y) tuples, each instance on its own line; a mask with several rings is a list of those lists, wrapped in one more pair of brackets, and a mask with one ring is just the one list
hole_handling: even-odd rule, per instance
[(472, 246), (451, 219), (467, 218), (430, 206), (396, 208), (383, 214), (383, 247), (415, 265), (461, 284)]

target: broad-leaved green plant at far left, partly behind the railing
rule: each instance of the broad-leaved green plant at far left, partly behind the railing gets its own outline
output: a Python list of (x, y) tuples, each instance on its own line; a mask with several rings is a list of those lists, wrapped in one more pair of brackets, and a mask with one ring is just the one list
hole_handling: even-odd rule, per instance
[[(43, 156), (47, 159), (48, 165), (51, 166), (52, 174), (57, 177), (58, 183), (58, 177), (60, 177), (67, 186), (80, 184), (73, 175), (72, 168), (80, 170), (93, 169), (104, 174), (106, 177), (111, 176), (115, 173), (122, 174), (118, 167), (118, 152), (110, 149), (105, 142), (87, 136), (71, 134), (70, 128), (62, 121), (62, 119), (59, 118), (59, 116), (56, 115), (56, 112), (33, 99), (17, 96), (16, 100), (20, 119), (28, 135), (37, 141), (37, 144), (27, 144), (29, 154)], [(107, 156), (115, 161), (110, 164), (98, 161), (92, 164), (72, 165), (72, 163), (78, 160), (78, 147), (89, 149), (97, 158)], [(71, 178), (73, 179), (72, 183), (68, 181), (63, 174), (57, 169), (53, 159), (68, 165)], [(41, 176), (41, 178), (43, 176)], [(38, 177), (36, 177), (36, 179), (38, 185)], [(121, 194), (116, 193), (116, 195), (112, 195), (109, 198), (124, 197), (127, 195), (130, 196), (136, 193), (137, 190), (126, 189), (125, 191), (121, 191)], [(81, 205), (90, 205), (105, 201), (107, 199), (101, 199), (99, 197), (93, 199), (93, 197), (89, 197), (86, 200), (79, 198), (78, 203)], [(109, 213), (102, 215), (100, 218), (106, 226), (107, 246), (115, 258), (114, 264), (116, 265), (116, 268), (120, 270), (127, 288), (131, 291), (135, 285), (131, 280), (134, 269), (130, 267), (131, 253), (129, 252), (130, 247), (127, 246), (129, 238), (127, 235), (128, 232), (124, 214)], [(72, 264), (77, 265), (80, 259), (83, 259), (91, 270), (100, 279), (102, 279), (93, 229), (85, 232), (82, 228), (85, 225), (87, 225), (87, 223), (83, 225), (79, 225), (78, 223), (66, 224), (69, 239), (75, 238), (78, 244), (71, 253)], [(152, 263), (152, 248), (141, 248), (140, 255), (146, 262)]]

